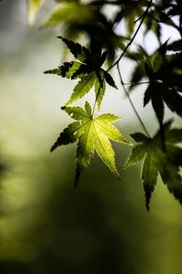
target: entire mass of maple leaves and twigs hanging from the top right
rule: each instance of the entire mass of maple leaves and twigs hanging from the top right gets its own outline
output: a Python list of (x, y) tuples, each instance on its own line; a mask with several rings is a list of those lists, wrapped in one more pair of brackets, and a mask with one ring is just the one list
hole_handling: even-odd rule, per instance
[[(109, 169), (116, 175), (115, 153), (109, 139), (116, 142), (131, 142), (116, 130), (110, 123), (118, 119), (114, 114), (105, 113), (94, 117), (97, 106), (101, 108), (105, 96), (106, 84), (116, 88), (116, 84), (108, 71), (117, 68), (123, 87), (125, 83), (119, 69), (122, 58), (136, 62), (131, 73), (130, 88), (126, 95), (131, 106), (135, 106), (130, 99), (129, 92), (142, 79), (147, 79), (147, 89), (144, 95), (144, 107), (151, 102), (159, 124), (154, 137), (150, 137), (146, 127), (137, 115), (143, 130), (147, 133), (131, 134), (139, 144), (134, 146), (125, 167), (144, 160), (142, 167), (142, 181), (146, 193), (146, 205), (149, 209), (151, 194), (157, 184), (158, 174), (164, 184), (167, 184), (177, 200), (182, 203), (182, 163), (181, 129), (171, 129), (171, 121), (165, 121), (165, 105), (167, 108), (182, 116), (182, 4), (180, 0), (55, 0), (56, 9), (47, 18), (44, 26), (65, 26), (64, 37), (58, 37), (74, 56), (74, 60), (65, 62), (58, 68), (46, 70), (45, 73), (56, 74), (63, 78), (77, 80), (70, 99), (62, 108), (74, 120), (60, 133), (51, 151), (58, 146), (77, 141), (76, 150), (76, 184), (80, 174), (90, 163), (94, 151)], [(44, 0), (29, 0), (29, 14), (39, 10)], [(112, 15), (105, 10), (109, 5), (116, 7)], [(116, 29), (125, 32), (118, 35)], [(171, 26), (178, 32), (177, 40), (164, 44), (162, 41), (162, 27)], [(144, 38), (152, 31), (157, 37), (158, 48), (149, 55), (147, 48), (136, 46), (131, 51), (130, 45), (134, 42), (141, 26), (144, 29)], [(87, 37), (86, 47), (73, 40), (78, 40), (80, 34)], [(119, 56), (118, 56), (119, 52)], [(108, 68), (103, 68), (107, 64)], [(71, 107), (76, 100), (83, 98), (86, 93), (94, 89), (96, 101), (91, 108), (86, 101), (85, 109)], [(136, 113), (137, 114), (137, 113)]]

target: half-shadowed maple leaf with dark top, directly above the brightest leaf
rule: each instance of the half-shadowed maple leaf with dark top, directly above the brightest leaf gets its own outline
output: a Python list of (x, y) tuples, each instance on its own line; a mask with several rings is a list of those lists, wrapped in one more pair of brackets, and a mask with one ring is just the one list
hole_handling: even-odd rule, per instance
[(112, 76), (105, 69), (101, 68), (106, 60), (107, 52), (103, 52), (100, 57), (93, 56), (86, 47), (81, 46), (79, 43), (70, 41), (65, 37), (58, 38), (66, 44), (66, 47), (68, 47), (77, 61), (65, 62), (58, 68), (46, 70), (45, 73), (56, 74), (67, 79), (79, 79), (70, 99), (66, 102), (66, 106), (84, 97), (95, 86), (99, 110), (105, 94), (106, 83), (116, 88)]

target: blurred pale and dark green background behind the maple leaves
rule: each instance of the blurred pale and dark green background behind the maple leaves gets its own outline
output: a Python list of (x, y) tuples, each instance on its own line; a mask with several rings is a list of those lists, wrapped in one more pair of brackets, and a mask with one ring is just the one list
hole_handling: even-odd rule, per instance
[[(0, 273), (181, 274), (182, 207), (159, 181), (147, 213), (140, 166), (122, 171), (129, 147), (114, 144), (122, 182), (95, 156), (76, 190), (76, 145), (49, 153), (74, 85), (43, 74), (63, 55), (56, 35), (28, 26), (25, 1), (1, 2)], [(125, 117), (128, 137), (138, 123), (123, 99), (107, 90), (102, 110)]]

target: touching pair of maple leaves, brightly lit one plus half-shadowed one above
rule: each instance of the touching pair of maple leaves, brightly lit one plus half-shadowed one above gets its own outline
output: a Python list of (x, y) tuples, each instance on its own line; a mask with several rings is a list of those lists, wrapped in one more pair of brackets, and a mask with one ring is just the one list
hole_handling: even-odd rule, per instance
[(45, 73), (53, 73), (58, 76), (66, 77), (67, 79), (79, 79), (70, 99), (66, 105), (62, 107), (76, 122), (68, 125), (68, 127), (61, 132), (56, 143), (51, 148), (54, 151), (58, 146), (76, 142), (76, 183), (82, 171), (90, 163), (90, 159), (94, 155), (94, 150), (109, 169), (120, 178), (115, 165), (115, 153), (112, 149), (111, 143), (108, 139), (116, 142), (124, 142), (131, 145), (131, 142), (118, 132), (116, 128), (109, 124), (110, 122), (120, 119), (114, 114), (105, 113), (98, 117), (93, 117), (94, 109), (91, 109), (89, 103), (86, 101), (85, 110), (80, 107), (68, 107), (74, 101), (84, 97), (93, 87), (95, 87), (96, 103), (98, 110), (100, 109), (103, 96), (105, 94), (106, 83), (116, 88), (116, 84), (112, 76), (101, 68), (106, 60), (106, 51), (100, 56), (92, 56), (86, 47), (70, 41), (64, 37), (58, 37), (70, 52), (79, 61), (65, 62), (61, 67), (46, 70)]

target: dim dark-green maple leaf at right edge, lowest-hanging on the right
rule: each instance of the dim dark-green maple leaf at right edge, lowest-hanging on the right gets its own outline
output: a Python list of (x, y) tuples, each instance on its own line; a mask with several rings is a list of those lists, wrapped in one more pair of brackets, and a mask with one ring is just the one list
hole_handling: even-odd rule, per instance
[(182, 176), (180, 174), (182, 148), (178, 145), (182, 142), (182, 129), (170, 129), (171, 123), (168, 121), (164, 124), (166, 152), (161, 142), (160, 132), (157, 132), (153, 138), (148, 138), (140, 132), (131, 135), (140, 144), (133, 148), (125, 168), (145, 159), (142, 181), (146, 193), (147, 210), (149, 210), (150, 198), (157, 184), (158, 174), (164, 184), (167, 184), (169, 192), (182, 204)]

